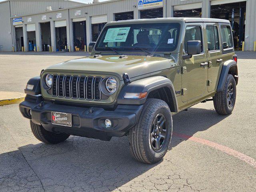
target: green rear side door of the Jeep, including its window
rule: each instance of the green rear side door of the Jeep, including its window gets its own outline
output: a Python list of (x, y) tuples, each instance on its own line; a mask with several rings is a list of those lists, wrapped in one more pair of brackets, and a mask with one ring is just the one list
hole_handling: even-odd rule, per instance
[(218, 23), (205, 23), (206, 40), (208, 51), (208, 92), (215, 90), (218, 86), (223, 60), (220, 50), (220, 30)]

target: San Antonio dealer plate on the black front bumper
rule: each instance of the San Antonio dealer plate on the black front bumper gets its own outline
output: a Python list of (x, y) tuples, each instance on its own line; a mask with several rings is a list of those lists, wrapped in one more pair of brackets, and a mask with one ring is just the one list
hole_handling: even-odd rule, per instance
[(52, 124), (72, 127), (72, 114), (52, 111)]

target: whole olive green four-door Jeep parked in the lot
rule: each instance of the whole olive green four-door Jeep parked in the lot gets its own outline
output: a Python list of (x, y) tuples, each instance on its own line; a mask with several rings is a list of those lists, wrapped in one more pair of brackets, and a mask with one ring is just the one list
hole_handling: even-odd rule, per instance
[(28, 81), (19, 107), (38, 140), (127, 135), (131, 154), (151, 164), (170, 146), (173, 115), (210, 100), (218, 114), (234, 108), (238, 70), (228, 20), (109, 22), (89, 50)]

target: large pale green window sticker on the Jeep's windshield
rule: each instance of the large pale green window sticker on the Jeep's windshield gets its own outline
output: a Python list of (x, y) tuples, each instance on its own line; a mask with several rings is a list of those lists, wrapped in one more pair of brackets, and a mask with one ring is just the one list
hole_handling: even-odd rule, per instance
[(103, 42), (125, 42), (129, 31), (130, 27), (110, 28), (108, 29)]

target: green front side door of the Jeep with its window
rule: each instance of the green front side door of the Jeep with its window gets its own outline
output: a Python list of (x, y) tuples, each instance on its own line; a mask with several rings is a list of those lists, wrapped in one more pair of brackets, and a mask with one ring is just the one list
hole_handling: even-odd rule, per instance
[(187, 42), (200, 40), (201, 53), (190, 59), (182, 60), (182, 102), (202, 96), (207, 86), (207, 57), (204, 51), (203, 24), (186, 26), (184, 52), (187, 53)]

